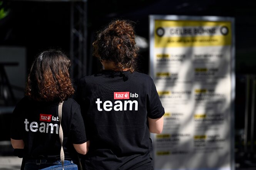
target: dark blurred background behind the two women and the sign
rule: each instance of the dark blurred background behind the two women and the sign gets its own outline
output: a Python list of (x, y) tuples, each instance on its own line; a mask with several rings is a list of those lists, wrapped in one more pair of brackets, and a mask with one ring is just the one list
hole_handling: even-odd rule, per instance
[(256, 2), (254, 0), (0, 0), (0, 155), (13, 155), (10, 119), (24, 96), (35, 56), (61, 49), (77, 80), (101, 69), (92, 56), (97, 31), (121, 18), (136, 22), (138, 70), (149, 74), (149, 15), (221, 16), (235, 19), (235, 162), (256, 168)]

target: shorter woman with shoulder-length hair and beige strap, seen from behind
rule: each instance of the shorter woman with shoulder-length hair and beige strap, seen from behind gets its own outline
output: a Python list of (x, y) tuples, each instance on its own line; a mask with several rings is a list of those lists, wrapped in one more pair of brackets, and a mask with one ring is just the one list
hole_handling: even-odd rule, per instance
[[(12, 115), (11, 143), (24, 149), (25, 170), (62, 169), (60, 150), (64, 150), (65, 170), (78, 169), (77, 152), (87, 153), (85, 127), (80, 106), (69, 76), (70, 60), (59, 50), (43, 51), (33, 61), (27, 78), (25, 97)], [(63, 103), (62, 103), (63, 102)], [(62, 117), (58, 114), (62, 103)], [(60, 127), (63, 142), (60, 142)], [(77, 151), (77, 152), (75, 152)]]

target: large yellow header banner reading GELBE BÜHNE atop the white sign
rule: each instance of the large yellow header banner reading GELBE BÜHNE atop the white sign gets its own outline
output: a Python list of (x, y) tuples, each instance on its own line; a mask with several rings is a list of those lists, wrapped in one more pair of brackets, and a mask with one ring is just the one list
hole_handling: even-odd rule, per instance
[(231, 23), (213, 21), (155, 21), (155, 47), (231, 45)]

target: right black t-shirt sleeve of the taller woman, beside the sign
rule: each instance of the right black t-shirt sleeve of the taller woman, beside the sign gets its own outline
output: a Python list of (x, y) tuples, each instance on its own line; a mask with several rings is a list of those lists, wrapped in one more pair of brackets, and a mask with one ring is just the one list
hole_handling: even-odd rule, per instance
[(147, 95), (147, 116), (151, 119), (158, 119), (164, 115), (164, 107), (159, 99), (156, 86), (151, 79), (151, 89)]

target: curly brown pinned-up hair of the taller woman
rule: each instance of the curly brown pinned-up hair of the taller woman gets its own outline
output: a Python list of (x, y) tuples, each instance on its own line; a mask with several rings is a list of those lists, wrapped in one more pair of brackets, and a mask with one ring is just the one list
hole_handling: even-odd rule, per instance
[(94, 56), (100, 60), (112, 61), (120, 68), (136, 68), (139, 48), (135, 42), (134, 23), (130, 20), (114, 20), (98, 33), (93, 43)]

